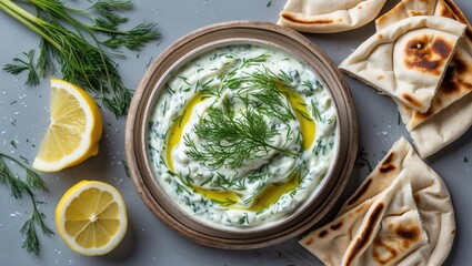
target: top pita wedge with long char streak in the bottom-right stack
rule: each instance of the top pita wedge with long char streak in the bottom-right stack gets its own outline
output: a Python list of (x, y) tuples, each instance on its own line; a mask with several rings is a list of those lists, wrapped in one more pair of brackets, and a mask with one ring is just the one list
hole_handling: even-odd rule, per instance
[(327, 265), (400, 264), (414, 249), (428, 245), (408, 172), (401, 172), (374, 198), (314, 231), (300, 243)]

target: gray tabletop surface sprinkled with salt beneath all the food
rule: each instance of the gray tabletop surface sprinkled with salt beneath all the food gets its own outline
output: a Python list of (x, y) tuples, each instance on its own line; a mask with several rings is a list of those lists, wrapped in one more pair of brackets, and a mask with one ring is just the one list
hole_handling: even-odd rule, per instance
[[(214, 22), (229, 20), (263, 20), (275, 22), (284, 0), (140, 0), (133, 1), (132, 22), (159, 22), (160, 41), (139, 53), (128, 53), (125, 60), (117, 60), (125, 84), (135, 88), (150, 60), (155, 58), (178, 38)], [(391, 1), (382, 13), (396, 1)], [(472, 2), (458, 0), (463, 12), (472, 19)], [(308, 37), (339, 63), (374, 31), (370, 23), (348, 33)], [(23, 51), (38, 45), (29, 30), (0, 12), (0, 65)], [(139, 54), (139, 57), (138, 57)], [(401, 135), (408, 136), (403, 124), (398, 123), (395, 106), (386, 96), (345, 76), (352, 90), (359, 115), (361, 147), (375, 164), (383, 152)], [(24, 76), (12, 76), (0, 71), (0, 152), (32, 161), (49, 123), (49, 82), (38, 88), (23, 85)], [(84, 257), (71, 252), (58, 235), (40, 235), (39, 257), (21, 249), (21, 224), (31, 209), (28, 201), (14, 201), (8, 190), (0, 186), (0, 265), (321, 265), (318, 259), (298, 245), (297, 239), (254, 250), (221, 250), (194, 244), (158, 221), (139, 197), (132, 181), (127, 177), (124, 158), (124, 120), (116, 120), (103, 112), (104, 132), (100, 154), (79, 166), (53, 174), (41, 174), (50, 193), (38, 194), (46, 201), (41, 211), (54, 232), (54, 207), (67, 188), (81, 180), (99, 180), (113, 184), (123, 195), (129, 209), (129, 228), (123, 243), (102, 257)], [(13, 125), (14, 124), (14, 125)], [(456, 211), (458, 234), (445, 265), (470, 265), (472, 254), (472, 132), (428, 160), (428, 163), (449, 185)], [(14, 149), (10, 142), (14, 141)], [(464, 162), (464, 156), (469, 162)], [(353, 192), (368, 170), (354, 168), (351, 182), (343, 195)]]

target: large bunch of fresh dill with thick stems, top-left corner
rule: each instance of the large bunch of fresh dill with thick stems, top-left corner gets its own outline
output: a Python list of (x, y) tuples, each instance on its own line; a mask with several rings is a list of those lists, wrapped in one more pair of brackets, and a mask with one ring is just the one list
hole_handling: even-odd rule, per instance
[(34, 52), (30, 51), (23, 54), (27, 60), (16, 58), (3, 69), (12, 74), (28, 71), (26, 83), (36, 85), (38, 76), (54, 74), (59, 66), (63, 80), (93, 93), (117, 116), (125, 115), (132, 93), (121, 81), (110, 55), (120, 55), (117, 49), (122, 47), (139, 51), (159, 37), (157, 24), (141, 23), (131, 30), (120, 30), (128, 21), (120, 12), (132, 9), (129, 0), (98, 0), (84, 10), (67, 7), (60, 0), (21, 1), (31, 6), (36, 16), (16, 2), (0, 0), (0, 9), (41, 37), (40, 53), (37, 63)]

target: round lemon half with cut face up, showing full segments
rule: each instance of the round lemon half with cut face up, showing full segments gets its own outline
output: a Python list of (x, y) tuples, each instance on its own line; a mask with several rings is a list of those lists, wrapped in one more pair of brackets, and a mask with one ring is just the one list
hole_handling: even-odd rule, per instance
[(86, 256), (104, 255), (117, 247), (127, 233), (127, 207), (113, 186), (81, 181), (59, 201), (56, 225), (72, 250)]

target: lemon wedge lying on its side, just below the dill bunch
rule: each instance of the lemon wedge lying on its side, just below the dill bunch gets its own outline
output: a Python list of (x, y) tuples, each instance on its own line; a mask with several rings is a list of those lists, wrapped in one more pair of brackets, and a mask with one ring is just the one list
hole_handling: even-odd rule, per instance
[(102, 117), (97, 103), (82, 89), (51, 79), (50, 120), (33, 168), (56, 172), (98, 154)]

